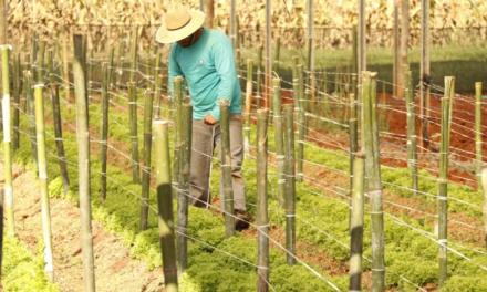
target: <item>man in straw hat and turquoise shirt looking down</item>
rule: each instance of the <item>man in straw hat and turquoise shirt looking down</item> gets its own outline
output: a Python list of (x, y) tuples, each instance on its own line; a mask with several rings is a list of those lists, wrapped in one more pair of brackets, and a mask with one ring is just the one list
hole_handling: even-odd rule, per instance
[[(159, 43), (173, 43), (169, 53), (169, 92), (175, 76), (185, 77), (193, 103), (190, 196), (197, 207), (210, 205), (211, 158), (220, 138), (219, 101), (230, 102), (230, 150), (236, 229), (248, 228), (249, 216), (241, 165), (244, 160), (240, 84), (234, 49), (227, 35), (203, 28), (205, 14), (196, 10), (168, 11), (156, 34)], [(221, 194), (220, 184), (220, 194)], [(221, 204), (222, 205), (222, 204)]]

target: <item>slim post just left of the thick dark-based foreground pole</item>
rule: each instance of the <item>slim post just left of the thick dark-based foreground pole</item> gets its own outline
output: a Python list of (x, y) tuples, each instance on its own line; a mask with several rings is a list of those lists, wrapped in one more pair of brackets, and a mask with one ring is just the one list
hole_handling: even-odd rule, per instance
[(146, 93), (144, 96), (144, 164), (142, 165), (142, 196), (141, 196), (141, 230), (147, 229), (148, 204), (151, 189), (151, 150), (153, 124), (154, 95)]

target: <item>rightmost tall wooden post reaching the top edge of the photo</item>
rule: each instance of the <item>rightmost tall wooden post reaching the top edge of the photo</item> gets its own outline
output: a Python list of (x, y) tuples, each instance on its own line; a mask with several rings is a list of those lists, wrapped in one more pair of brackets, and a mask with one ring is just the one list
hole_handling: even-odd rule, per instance
[(421, 1), (421, 81), (419, 81), (419, 103), (422, 121), (422, 145), (423, 149), (429, 147), (429, 93), (431, 93), (431, 62), (429, 62), (429, 0)]

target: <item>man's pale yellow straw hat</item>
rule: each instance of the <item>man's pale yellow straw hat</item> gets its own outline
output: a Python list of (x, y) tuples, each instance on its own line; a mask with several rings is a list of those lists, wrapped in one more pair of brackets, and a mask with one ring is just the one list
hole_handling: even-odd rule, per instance
[(157, 30), (156, 41), (174, 43), (203, 27), (205, 13), (199, 10), (178, 8), (166, 13), (165, 23)]

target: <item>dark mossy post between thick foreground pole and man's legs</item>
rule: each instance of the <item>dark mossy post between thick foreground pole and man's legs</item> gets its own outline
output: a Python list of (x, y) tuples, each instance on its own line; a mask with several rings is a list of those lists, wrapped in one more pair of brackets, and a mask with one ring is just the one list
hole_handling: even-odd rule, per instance
[(188, 242), (186, 230), (188, 228), (188, 201), (189, 201), (189, 175), (191, 161), (191, 135), (193, 135), (193, 105), (190, 100), (185, 101), (182, 106), (182, 127), (179, 140), (179, 191), (177, 196), (177, 259), (179, 263), (179, 272), (184, 272), (188, 262)]

